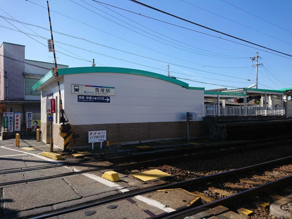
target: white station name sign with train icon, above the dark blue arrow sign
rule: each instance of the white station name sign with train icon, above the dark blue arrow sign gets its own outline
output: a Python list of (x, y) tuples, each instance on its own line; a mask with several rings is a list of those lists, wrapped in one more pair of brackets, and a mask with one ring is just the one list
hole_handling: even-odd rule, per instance
[[(73, 94), (79, 94), (79, 95), (83, 94), (83, 95), (114, 96), (113, 87), (72, 84), (71, 89), (72, 89)], [(78, 101), (79, 101), (79, 98), (78, 98)]]

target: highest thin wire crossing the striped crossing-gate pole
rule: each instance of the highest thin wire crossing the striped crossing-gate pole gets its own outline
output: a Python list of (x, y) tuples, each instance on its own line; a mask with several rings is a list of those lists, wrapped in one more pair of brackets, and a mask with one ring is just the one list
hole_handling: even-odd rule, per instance
[[(37, 5), (37, 6), (39, 6), (39, 7), (42, 7), (42, 8), (44, 8), (44, 9), (47, 10), (46, 7), (41, 6), (41, 5), (39, 5), (39, 4), (37, 4), (37, 3), (33, 2), (33, 1), (31, 1), (31, 0), (27, 0), (27, 1), (30, 2), (30, 3), (33, 3), (33, 4), (35, 4), (35, 5)], [(101, 3), (102, 3), (102, 2), (101, 2)], [(115, 7), (115, 6), (114, 6), (114, 7)], [(123, 9), (123, 10), (125, 10), (125, 9)], [(125, 41), (127, 41), (127, 42), (129, 42), (129, 43), (132, 43), (132, 44), (137, 45), (137, 46), (140, 46), (140, 47), (142, 47), (142, 48), (145, 48), (145, 49), (148, 49), (148, 50), (154, 51), (154, 52), (156, 52), (156, 53), (160, 53), (160, 54), (163, 54), (163, 55), (167, 55), (167, 54), (164, 54), (164, 53), (162, 53), (162, 52), (159, 52), (159, 51), (156, 51), (156, 50), (153, 50), (153, 49), (147, 48), (147, 47), (145, 47), (145, 46), (142, 46), (142, 45), (140, 45), (140, 44), (134, 43), (134, 42), (132, 42), (132, 41), (130, 41), (130, 40), (127, 40), (127, 39), (125, 39), (125, 38), (115, 36), (115, 35), (113, 35), (113, 34), (110, 34), (110, 33), (106, 32), (106, 31), (103, 31), (103, 30), (101, 30), (101, 29), (98, 29), (98, 28), (96, 28), (96, 27), (94, 27), (94, 26), (92, 26), (92, 25), (90, 25), (90, 24), (84, 23), (84, 22), (82, 22), (82, 21), (80, 21), (80, 20), (77, 20), (77, 19), (75, 19), (75, 18), (71, 18), (71, 17), (69, 17), (69, 16), (67, 16), (67, 15), (61, 14), (61, 13), (56, 12), (56, 11), (54, 11), (54, 10), (50, 10), (50, 11), (51, 11), (51, 12), (55, 12), (55, 13), (57, 13), (57, 14), (59, 14), (59, 15), (61, 15), (61, 16), (64, 16), (64, 17), (66, 17), (66, 18), (73, 19), (73, 20), (75, 20), (75, 21), (77, 21), (77, 22), (80, 22), (80, 23), (82, 23), (82, 24), (84, 24), (84, 25), (87, 25), (87, 26), (89, 26), (89, 27), (91, 27), (91, 28), (94, 28), (94, 29), (96, 29), (96, 30), (98, 30), (98, 31), (101, 31), (101, 32), (103, 32), (103, 33), (106, 33), (106, 34), (108, 34), (108, 35), (110, 35), (110, 36), (117, 37), (117, 38), (119, 38), (119, 39), (125, 40)], [(129, 12), (130, 12), (130, 11), (129, 11)], [(132, 12), (132, 13), (134, 13), (134, 12)], [(146, 17), (146, 16), (145, 16), (145, 17)], [(254, 47), (254, 48), (255, 48), (255, 47)], [(259, 50), (260, 50), (260, 49), (259, 49)], [(168, 55), (168, 56), (170, 56), (170, 57), (174, 57), (174, 56), (171, 56), (171, 55)], [(174, 57), (174, 58), (177, 58), (177, 57)], [(179, 59), (179, 58), (178, 58), (178, 59)], [(183, 60), (183, 59), (181, 59), (181, 60)], [(185, 60), (184, 60), (184, 61), (185, 61)], [(188, 62), (190, 62), (190, 61), (188, 61)], [(194, 62), (191, 62), (191, 63), (194, 63)], [(198, 63), (194, 63), (194, 64), (202, 65), (202, 64), (198, 64)], [(248, 66), (248, 67), (220, 67), (220, 66), (208, 66), (208, 65), (204, 65), (204, 66), (205, 66), (205, 67), (209, 67), (209, 68), (231, 68), (231, 69), (234, 69), (234, 68), (250, 68), (250, 66)]]

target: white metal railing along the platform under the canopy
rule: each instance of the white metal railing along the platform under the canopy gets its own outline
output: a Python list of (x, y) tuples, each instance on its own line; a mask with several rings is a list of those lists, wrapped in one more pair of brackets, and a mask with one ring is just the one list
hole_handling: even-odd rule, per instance
[(285, 109), (281, 107), (259, 107), (256, 106), (220, 106), (217, 104), (205, 104), (205, 116), (258, 116), (258, 115), (284, 115)]

